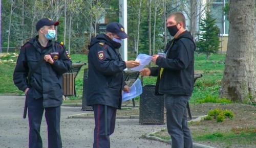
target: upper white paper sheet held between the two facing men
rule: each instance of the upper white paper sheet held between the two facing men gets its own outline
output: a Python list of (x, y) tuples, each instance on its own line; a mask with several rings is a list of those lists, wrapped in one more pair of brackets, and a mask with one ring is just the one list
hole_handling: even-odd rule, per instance
[(148, 56), (146, 54), (139, 54), (138, 57), (135, 59), (135, 61), (140, 62), (140, 65), (137, 67), (131, 68), (131, 70), (140, 71), (146, 65), (150, 64), (150, 62), (152, 61), (152, 56)]

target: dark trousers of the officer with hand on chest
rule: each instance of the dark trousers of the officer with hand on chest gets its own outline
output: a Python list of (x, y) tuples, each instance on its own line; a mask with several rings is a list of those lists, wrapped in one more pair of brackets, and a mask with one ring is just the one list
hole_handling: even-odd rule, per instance
[(60, 106), (42, 107), (43, 98), (33, 98), (33, 89), (30, 88), (26, 95), (28, 101), (29, 118), (29, 148), (41, 148), (42, 139), (40, 136), (40, 126), (42, 115), (45, 110), (45, 117), (48, 128), (48, 148), (62, 147), (60, 136)]

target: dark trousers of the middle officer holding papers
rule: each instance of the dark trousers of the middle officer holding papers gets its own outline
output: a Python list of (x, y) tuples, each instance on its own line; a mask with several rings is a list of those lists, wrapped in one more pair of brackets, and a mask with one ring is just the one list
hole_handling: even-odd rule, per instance
[(107, 112), (107, 135), (105, 135), (104, 105), (93, 105), (94, 111), (94, 148), (109, 148), (110, 135), (114, 133), (116, 125), (116, 108), (106, 106)]

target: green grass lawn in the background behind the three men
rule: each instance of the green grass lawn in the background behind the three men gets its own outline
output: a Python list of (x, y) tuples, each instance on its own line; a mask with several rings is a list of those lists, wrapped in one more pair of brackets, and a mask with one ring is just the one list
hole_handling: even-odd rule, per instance
[[(23, 92), (16, 88), (12, 80), (12, 73), (17, 58), (11, 57), (11, 55), (3, 57), (3, 55), (5, 54), (2, 54), (0, 60), (0, 81), (2, 82), (0, 84), (0, 93), (22, 94)], [(87, 62), (87, 55), (72, 54), (71, 59), (73, 63)], [(4, 60), (13, 60), (14, 62), (3, 62)], [(225, 55), (211, 55), (209, 60), (205, 60), (204, 55), (195, 55), (195, 73), (202, 73), (203, 77), (196, 81), (190, 102), (201, 100), (208, 96), (218, 97), (218, 90), (224, 70), (224, 64), (220, 62), (224, 60)], [(71, 100), (79, 100), (82, 97), (84, 68), (88, 68), (88, 65), (82, 66), (81, 70), (78, 72), (75, 80), (77, 97), (71, 96)], [(143, 85), (155, 84), (155, 82), (156, 77), (144, 77)]]

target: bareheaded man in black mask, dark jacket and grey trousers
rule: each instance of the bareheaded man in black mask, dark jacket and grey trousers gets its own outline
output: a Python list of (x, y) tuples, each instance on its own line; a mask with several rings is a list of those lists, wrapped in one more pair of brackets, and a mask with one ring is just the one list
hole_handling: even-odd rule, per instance
[(193, 142), (187, 126), (186, 105), (194, 85), (195, 43), (185, 30), (182, 13), (169, 14), (166, 25), (174, 39), (167, 43), (166, 58), (153, 55), (158, 67), (144, 68), (143, 76), (157, 76), (156, 94), (164, 94), (167, 130), (172, 138), (172, 147), (190, 148)]

